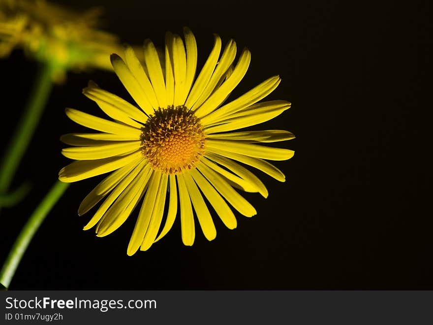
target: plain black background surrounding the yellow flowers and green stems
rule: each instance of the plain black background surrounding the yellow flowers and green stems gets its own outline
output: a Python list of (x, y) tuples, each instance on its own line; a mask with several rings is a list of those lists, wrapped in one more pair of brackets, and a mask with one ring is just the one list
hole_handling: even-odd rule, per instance
[[(237, 214), (237, 229), (215, 218), (216, 239), (208, 242), (196, 227), (195, 243), (186, 247), (178, 218), (163, 240), (133, 257), (126, 247), (137, 211), (97, 238), (82, 230), (91, 214), (76, 211), (98, 180), (74, 183), (36, 233), (11, 290), (433, 289), (430, 4), (296, 2), (302, 4), (93, 1), (106, 8), (104, 29), (124, 42), (152, 38), (163, 45), (167, 30), (188, 26), (201, 64), (213, 32), (223, 41), (234, 38), (238, 52), (247, 46), (251, 65), (233, 97), (279, 74), (282, 82), (267, 100), (286, 99), (292, 108), (261, 128), (295, 133), (281, 143), (295, 156), (276, 162), (285, 183), (259, 174), (269, 197), (245, 194), (258, 215)], [(36, 64), (17, 50), (0, 68), (4, 147)], [(34, 188), (0, 215), (1, 260), (69, 162), (60, 154), (60, 135), (83, 130), (64, 108), (97, 111), (81, 94), (89, 79), (129, 98), (109, 72), (69, 73), (55, 86), (14, 182), (29, 179)]]

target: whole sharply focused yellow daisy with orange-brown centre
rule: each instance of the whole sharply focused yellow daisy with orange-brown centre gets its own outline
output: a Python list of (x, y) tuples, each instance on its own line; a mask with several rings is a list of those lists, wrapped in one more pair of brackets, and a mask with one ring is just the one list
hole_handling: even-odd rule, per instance
[(144, 45), (144, 65), (130, 47), (125, 49), (125, 60), (111, 56), (116, 74), (139, 108), (90, 82), (84, 95), (112, 120), (66, 109), (71, 120), (100, 133), (62, 136), (61, 140), (72, 146), (62, 154), (77, 161), (62, 168), (59, 179), (75, 182), (115, 170), (81, 203), (79, 215), (108, 195), (84, 229), (97, 225), (97, 236), (108, 235), (144, 197), (128, 255), (139, 248), (146, 251), (164, 237), (173, 226), (178, 202), (185, 245), (194, 242), (193, 209), (205, 237), (216, 237), (205, 198), (224, 225), (235, 228), (237, 222), (229, 204), (246, 217), (255, 215), (256, 210), (234, 188), (268, 195), (265, 185), (240, 163), (284, 182), (284, 174), (266, 160), (287, 160), (294, 153), (261, 145), (294, 138), (288, 131), (233, 132), (268, 121), (290, 107), (284, 100), (258, 102), (277, 88), (279, 76), (224, 103), (247, 72), (250, 52), (244, 49), (233, 66), (235, 41), (230, 40), (220, 55), (221, 38), (215, 35), (213, 49), (195, 78), (195, 37), (187, 28), (184, 34), (185, 43), (179, 35), (167, 33), (164, 62), (150, 40)]

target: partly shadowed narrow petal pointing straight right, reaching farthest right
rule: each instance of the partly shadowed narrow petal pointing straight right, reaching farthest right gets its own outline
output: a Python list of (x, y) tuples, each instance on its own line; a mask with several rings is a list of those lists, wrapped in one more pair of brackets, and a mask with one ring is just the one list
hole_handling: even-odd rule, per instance
[(218, 140), (239, 140), (247, 143), (257, 142), (277, 142), (293, 139), (295, 135), (286, 130), (263, 130), (263, 131), (245, 131), (245, 132), (230, 132), (208, 134), (209, 139)]

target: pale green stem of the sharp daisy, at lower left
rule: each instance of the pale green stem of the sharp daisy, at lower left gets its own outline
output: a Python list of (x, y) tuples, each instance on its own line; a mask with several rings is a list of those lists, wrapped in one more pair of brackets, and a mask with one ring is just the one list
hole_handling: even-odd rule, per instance
[(34, 233), (59, 198), (62, 196), (64, 191), (68, 188), (68, 186), (69, 183), (57, 181), (51, 188), (50, 192), (48, 192), (48, 194), (45, 195), (43, 200), (39, 203), (36, 210), (33, 211), (26, 225), (24, 225), (0, 271), (0, 283), (6, 289), (9, 287), (10, 281), (15, 274), (18, 264), (23, 258), (23, 255), (26, 252), (26, 249), (29, 246)]

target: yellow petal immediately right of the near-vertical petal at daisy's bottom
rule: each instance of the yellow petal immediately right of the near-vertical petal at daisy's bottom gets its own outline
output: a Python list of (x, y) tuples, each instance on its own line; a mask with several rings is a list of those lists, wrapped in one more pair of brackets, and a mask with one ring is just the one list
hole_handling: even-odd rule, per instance
[(198, 222), (207, 240), (214, 240), (216, 237), (216, 228), (208, 207), (206, 206), (203, 196), (195, 185), (194, 180), (188, 173), (183, 174), (185, 179), (186, 188), (189, 197), (191, 198), (192, 205), (194, 206), (195, 214), (197, 215)]

